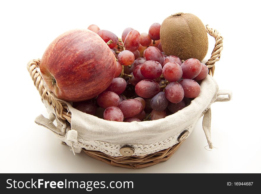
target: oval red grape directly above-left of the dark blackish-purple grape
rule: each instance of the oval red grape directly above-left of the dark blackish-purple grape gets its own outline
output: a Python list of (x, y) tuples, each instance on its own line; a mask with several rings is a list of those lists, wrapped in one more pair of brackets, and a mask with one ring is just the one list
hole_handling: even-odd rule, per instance
[(154, 80), (144, 79), (136, 84), (135, 92), (140, 97), (151, 98), (160, 92), (160, 85)]

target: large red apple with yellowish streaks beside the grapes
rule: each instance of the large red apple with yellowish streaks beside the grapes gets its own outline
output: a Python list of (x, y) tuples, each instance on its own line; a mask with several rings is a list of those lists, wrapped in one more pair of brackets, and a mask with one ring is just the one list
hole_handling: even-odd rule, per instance
[(116, 59), (95, 32), (71, 30), (48, 46), (40, 71), (59, 99), (77, 102), (96, 97), (111, 84)]

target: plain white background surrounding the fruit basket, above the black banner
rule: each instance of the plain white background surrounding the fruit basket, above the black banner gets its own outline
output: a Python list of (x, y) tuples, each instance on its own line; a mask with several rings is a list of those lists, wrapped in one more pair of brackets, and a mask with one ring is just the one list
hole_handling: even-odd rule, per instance
[[(224, 49), (214, 78), (233, 100), (212, 110), (212, 142), (206, 151), (202, 118), (166, 162), (144, 169), (112, 167), (69, 147), (34, 123), (47, 116), (26, 64), (41, 58), (61, 33), (96, 24), (121, 37), (126, 27), (148, 32), (171, 14), (192, 13), (219, 30)], [(261, 172), (260, 7), (254, 1), (1, 1), (0, 172), (201, 173)], [(209, 38), (210, 53), (214, 48)]]

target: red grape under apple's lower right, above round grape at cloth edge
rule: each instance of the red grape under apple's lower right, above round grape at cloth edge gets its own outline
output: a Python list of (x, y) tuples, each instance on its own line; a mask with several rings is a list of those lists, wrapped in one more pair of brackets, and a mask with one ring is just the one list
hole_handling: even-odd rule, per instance
[(109, 106), (118, 106), (120, 97), (114, 92), (105, 91), (98, 95), (96, 101), (100, 107), (107, 108)]

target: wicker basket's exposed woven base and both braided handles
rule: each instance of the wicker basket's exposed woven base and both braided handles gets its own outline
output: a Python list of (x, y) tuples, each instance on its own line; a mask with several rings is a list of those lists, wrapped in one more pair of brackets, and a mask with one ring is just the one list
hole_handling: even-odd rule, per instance
[[(206, 65), (209, 68), (209, 75), (213, 76), (215, 70), (214, 64), (216, 61), (219, 61), (221, 50), (223, 49), (223, 42), (222, 42), (223, 38), (222, 36), (220, 36), (220, 33), (217, 30), (213, 30), (212, 28), (209, 28), (208, 25), (206, 26), (206, 30), (209, 33), (209, 35), (215, 38), (216, 41), (214, 50), (212, 51), (211, 54), (211, 58), (206, 62)], [(44, 87), (44, 80), (42, 79), (42, 76), (37, 70), (39, 64), (40, 64), (40, 59), (31, 60), (27, 64), (27, 69), (30, 73), (31, 78), (34, 80), (34, 85), (36, 89), (39, 91), (39, 94), (42, 97), (42, 99), (47, 100), (47, 102), (52, 106), (58, 118), (67, 120), (68, 123), (71, 123), (71, 114), (70, 112), (68, 113), (67, 111), (67, 105), (63, 104), (61, 101), (55, 100), (55, 98), (52, 97), (51, 92), (49, 92), (47, 88)], [(182, 144), (185, 137), (186, 137), (186, 133), (182, 133), (182, 135), (180, 135), (178, 138), (179, 140), (178, 144), (175, 144), (174, 146), (168, 149), (157, 151), (153, 154), (148, 154), (145, 156), (113, 157), (100, 151), (92, 151), (87, 149), (82, 149), (82, 150), (87, 155), (95, 159), (101, 160), (103, 162), (106, 162), (107, 164), (110, 164), (112, 166), (120, 166), (126, 168), (142, 168), (168, 160)]]

